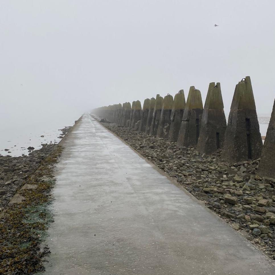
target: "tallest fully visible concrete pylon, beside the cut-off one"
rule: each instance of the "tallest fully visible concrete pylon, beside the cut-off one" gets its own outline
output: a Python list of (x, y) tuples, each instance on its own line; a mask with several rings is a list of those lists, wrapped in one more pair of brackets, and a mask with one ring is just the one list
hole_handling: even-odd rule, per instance
[(251, 80), (247, 76), (235, 88), (225, 131), (223, 159), (227, 162), (256, 159), (261, 152), (262, 137)]

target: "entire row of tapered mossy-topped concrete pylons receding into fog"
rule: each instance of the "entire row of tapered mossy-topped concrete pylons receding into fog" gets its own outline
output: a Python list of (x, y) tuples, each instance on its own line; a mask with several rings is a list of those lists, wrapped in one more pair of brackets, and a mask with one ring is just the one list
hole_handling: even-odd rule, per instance
[[(275, 101), (274, 101), (275, 106)], [(258, 174), (275, 178), (275, 114), (274, 108), (264, 148), (256, 113), (250, 77), (235, 88), (228, 123), (223, 111), (220, 83), (210, 83), (203, 107), (200, 90), (191, 86), (187, 101), (184, 91), (173, 96), (160, 95), (140, 101), (101, 107), (93, 110), (101, 117), (121, 126), (168, 138), (178, 146), (193, 146), (201, 154), (212, 154), (223, 148), (223, 159), (239, 162), (262, 156)]]

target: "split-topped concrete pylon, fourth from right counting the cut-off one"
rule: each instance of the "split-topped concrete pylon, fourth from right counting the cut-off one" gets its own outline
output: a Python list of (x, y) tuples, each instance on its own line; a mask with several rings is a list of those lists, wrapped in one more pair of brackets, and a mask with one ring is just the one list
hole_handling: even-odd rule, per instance
[(199, 135), (200, 125), (202, 120), (202, 95), (200, 90), (191, 86), (189, 89), (185, 109), (180, 124), (180, 131), (178, 133), (178, 146), (196, 146)]

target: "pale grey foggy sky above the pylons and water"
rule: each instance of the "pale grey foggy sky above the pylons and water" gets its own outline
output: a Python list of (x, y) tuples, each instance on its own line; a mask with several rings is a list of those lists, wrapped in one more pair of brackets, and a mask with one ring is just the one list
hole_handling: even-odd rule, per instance
[[(251, 76), (259, 113), (275, 97), (274, 1), (0, 1), (0, 114), (12, 121), (175, 95), (205, 100), (221, 82), (225, 112)], [(214, 24), (219, 27), (214, 27)], [(22, 85), (21, 85), (22, 84)]]

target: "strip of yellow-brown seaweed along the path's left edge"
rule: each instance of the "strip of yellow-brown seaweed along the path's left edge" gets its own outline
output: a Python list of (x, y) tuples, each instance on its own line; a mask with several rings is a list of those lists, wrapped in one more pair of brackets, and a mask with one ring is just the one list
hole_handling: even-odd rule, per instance
[[(55, 183), (53, 165), (61, 151), (61, 146), (54, 146), (38, 169), (24, 180), (26, 188), (20, 188), (0, 214), (0, 274), (44, 270), (42, 258), (50, 251), (47, 247), (41, 249), (40, 244), (52, 221), (47, 205)], [(14, 200), (16, 196), (18, 200)]]

